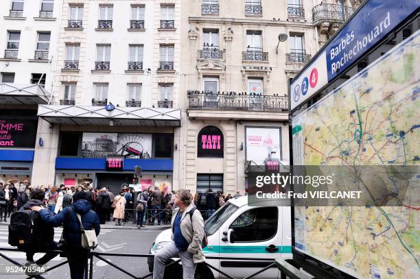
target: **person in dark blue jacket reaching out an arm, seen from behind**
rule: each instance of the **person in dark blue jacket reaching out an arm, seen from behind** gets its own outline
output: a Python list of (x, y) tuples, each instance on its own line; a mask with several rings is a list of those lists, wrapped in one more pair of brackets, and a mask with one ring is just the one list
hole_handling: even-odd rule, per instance
[(96, 235), (100, 234), (100, 222), (95, 213), (91, 210), (91, 203), (88, 202), (88, 193), (80, 191), (73, 195), (73, 204), (62, 210), (58, 215), (51, 214), (40, 206), (31, 209), (38, 211), (43, 221), (54, 227), (63, 226), (63, 237), (67, 246), (67, 258), (69, 259), (71, 279), (83, 279), (84, 271), (87, 269), (89, 251), (82, 247), (82, 233), (76, 213), (82, 219), (84, 230), (95, 230)]

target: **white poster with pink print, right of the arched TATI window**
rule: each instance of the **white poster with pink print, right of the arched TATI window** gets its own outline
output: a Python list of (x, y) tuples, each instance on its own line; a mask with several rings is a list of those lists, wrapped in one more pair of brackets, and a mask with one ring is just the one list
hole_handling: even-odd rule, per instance
[(246, 160), (263, 165), (281, 159), (280, 128), (246, 128)]

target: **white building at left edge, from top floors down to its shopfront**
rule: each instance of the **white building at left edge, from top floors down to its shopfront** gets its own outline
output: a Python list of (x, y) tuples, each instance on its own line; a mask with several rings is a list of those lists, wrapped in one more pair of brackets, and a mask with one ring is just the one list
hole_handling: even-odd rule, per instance
[(1, 1), (0, 182), (32, 180), (36, 112), (56, 78), (60, 10), (60, 1)]

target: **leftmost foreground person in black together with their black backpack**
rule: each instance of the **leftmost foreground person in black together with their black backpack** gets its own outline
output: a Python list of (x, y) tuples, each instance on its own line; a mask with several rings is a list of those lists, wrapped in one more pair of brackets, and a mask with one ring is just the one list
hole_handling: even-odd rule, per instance
[[(38, 213), (31, 211), (32, 206), (42, 206), (43, 208), (44, 191), (38, 188), (32, 189), (30, 197), (31, 199), (18, 212), (12, 213), (9, 225), (9, 244), (26, 252), (27, 264), (34, 263), (36, 252), (46, 252), (42, 258), (35, 262), (36, 265), (45, 265), (58, 255), (58, 252), (49, 252), (49, 250), (57, 248), (57, 243), (54, 241), (54, 227), (47, 225)], [(47, 208), (45, 210), (49, 213)]]

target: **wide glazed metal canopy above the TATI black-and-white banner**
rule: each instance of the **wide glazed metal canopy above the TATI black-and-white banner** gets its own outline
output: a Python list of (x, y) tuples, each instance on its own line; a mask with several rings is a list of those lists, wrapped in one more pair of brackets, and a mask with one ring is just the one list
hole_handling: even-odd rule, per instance
[(180, 126), (181, 111), (176, 108), (56, 106), (40, 105), (38, 117), (65, 125)]

